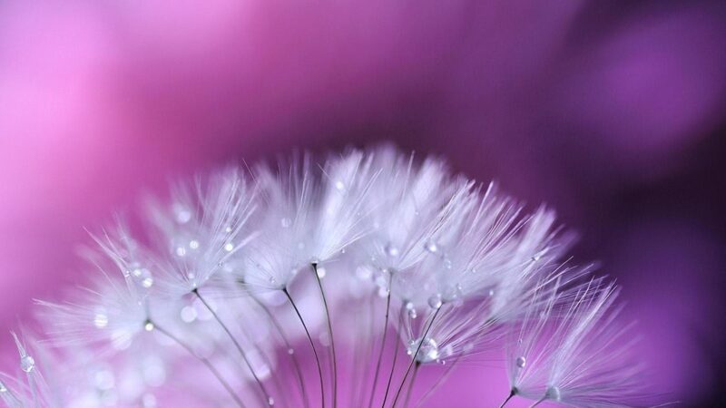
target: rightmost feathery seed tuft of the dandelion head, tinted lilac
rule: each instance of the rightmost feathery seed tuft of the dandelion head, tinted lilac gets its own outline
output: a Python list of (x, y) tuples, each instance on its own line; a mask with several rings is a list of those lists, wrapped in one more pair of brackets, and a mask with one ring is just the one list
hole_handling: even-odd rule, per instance
[[(568, 406), (642, 406), (643, 366), (629, 355), (635, 338), (613, 308), (617, 289), (602, 279), (541, 295), (509, 343), (511, 396)], [(534, 316), (533, 316), (534, 315)]]

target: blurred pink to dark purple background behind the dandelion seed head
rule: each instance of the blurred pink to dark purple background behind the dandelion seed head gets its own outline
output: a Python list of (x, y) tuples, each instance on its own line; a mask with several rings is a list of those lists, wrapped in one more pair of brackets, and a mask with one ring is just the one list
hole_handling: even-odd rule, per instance
[[(5, 0), (0, 332), (83, 281), (83, 227), (170, 178), (394, 141), (558, 209), (623, 285), (643, 381), (716, 406), (724, 108), (719, 1)], [(505, 394), (457, 375), (451, 406)]]

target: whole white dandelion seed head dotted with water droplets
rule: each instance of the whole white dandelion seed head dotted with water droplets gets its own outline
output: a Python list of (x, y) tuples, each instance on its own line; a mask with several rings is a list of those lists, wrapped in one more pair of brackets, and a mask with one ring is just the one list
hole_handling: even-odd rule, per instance
[(0, 402), (417, 406), (500, 352), (505, 403), (649, 401), (617, 288), (567, 258), (554, 211), (442, 160), (301, 155), (175, 184), (140, 214), (93, 234), (83, 287), (37, 301), (41, 340), (15, 336)]

